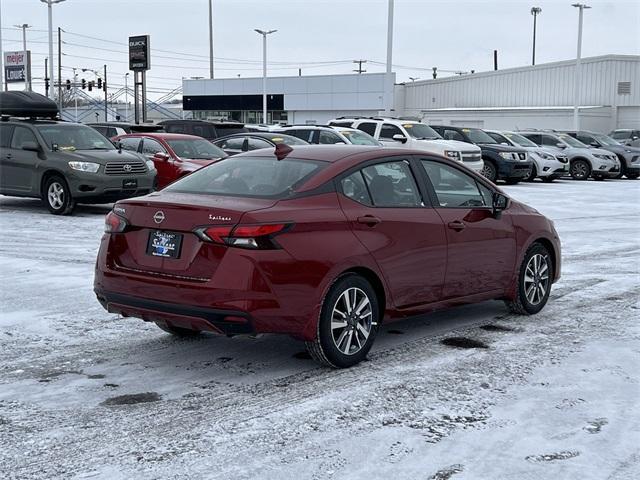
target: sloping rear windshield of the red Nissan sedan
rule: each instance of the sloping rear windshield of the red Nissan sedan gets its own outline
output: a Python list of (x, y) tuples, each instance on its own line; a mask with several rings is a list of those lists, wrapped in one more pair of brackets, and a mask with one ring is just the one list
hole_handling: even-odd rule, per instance
[(205, 195), (287, 198), (326, 162), (271, 157), (229, 157), (197, 170), (165, 190)]

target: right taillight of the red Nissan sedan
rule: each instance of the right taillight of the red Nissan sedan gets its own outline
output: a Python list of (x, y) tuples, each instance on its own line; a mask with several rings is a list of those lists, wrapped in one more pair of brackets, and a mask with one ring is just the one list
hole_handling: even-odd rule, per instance
[(231, 247), (271, 250), (280, 248), (274, 236), (288, 230), (289, 223), (271, 223), (266, 225), (214, 225), (195, 231), (205, 242), (219, 243)]

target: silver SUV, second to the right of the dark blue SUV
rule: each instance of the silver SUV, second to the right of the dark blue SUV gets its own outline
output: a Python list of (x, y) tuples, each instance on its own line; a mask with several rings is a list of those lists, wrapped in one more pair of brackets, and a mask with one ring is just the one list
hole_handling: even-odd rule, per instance
[(620, 162), (615, 154), (599, 148), (589, 148), (571, 135), (558, 132), (518, 132), (536, 145), (548, 147), (569, 157), (569, 173), (575, 180), (614, 178), (620, 173)]

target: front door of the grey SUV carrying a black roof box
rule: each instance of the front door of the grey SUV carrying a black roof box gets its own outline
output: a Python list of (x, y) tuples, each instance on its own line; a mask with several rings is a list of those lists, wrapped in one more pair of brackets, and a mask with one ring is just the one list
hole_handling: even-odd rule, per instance
[(21, 125), (15, 125), (9, 148), (3, 149), (3, 177), (6, 191), (14, 193), (33, 193), (34, 176), (42, 160), (39, 153), (31, 150), (24, 150), (25, 143), (31, 142), (40, 145), (35, 133)]

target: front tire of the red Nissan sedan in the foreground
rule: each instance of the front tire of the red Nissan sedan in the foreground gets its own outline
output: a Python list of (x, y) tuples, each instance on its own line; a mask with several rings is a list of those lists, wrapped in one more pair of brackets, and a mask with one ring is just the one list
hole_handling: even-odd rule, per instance
[[(544, 259), (547, 269), (543, 273), (537, 275), (531, 275), (532, 270), (529, 270), (530, 262), (536, 256), (541, 256)], [(541, 269), (542, 270), (542, 269)], [(531, 281), (525, 280), (525, 274), (528, 274), (528, 278), (532, 278)], [(546, 274), (546, 280), (543, 277)], [(551, 284), (553, 283), (554, 265), (549, 250), (540, 244), (534, 243), (529, 247), (527, 253), (520, 264), (520, 271), (518, 272), (518, 285), (516, 287), (516, 294), (513, 300), (506, 300), (505, 303), (509, 310), (513, 313), (520, 315), (533, 315), (538, 313), (544, 308), (549, 300), (549, 293), (551, 292)], [(539, 281), (538, 281), (539, 280)], [(540, 290), (533, 292), (533, 298), (530, 296), (531, 288), (537, 289), (538, 285), (543, 285), (545, 288), (544, 294), (540, 295)], [(536, 296), (537, 293), (537, 296)], [(536, 301), (537, 300), (537, 301)]]

